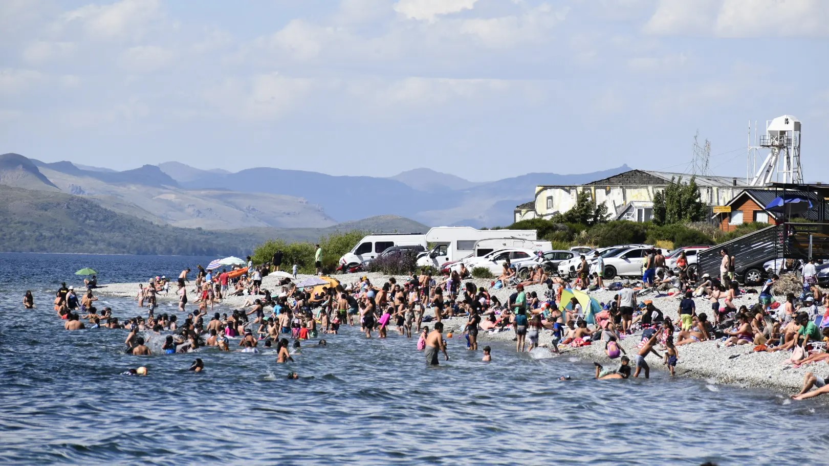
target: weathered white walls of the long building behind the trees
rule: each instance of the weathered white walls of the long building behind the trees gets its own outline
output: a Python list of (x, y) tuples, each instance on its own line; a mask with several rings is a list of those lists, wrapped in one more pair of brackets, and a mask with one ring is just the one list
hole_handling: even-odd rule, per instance
[[(653, 216), (653, 195), (667, 187), (671, 178), (682, 177), (688, 182), (687, 173), (630, 170), (579, 186), (539, 186), (536, 199), (521, 204), (515, 210), (516, 221), (529, 218), (550, 218), (569, 211), (575, 206), (579, 192), (589, 192), (597, 202), (608, 206), (609, 220), (649, 221)], [(745, 178), (697, 176), (701, 201), (709, 206), (724, 206), (746, 187)]]

